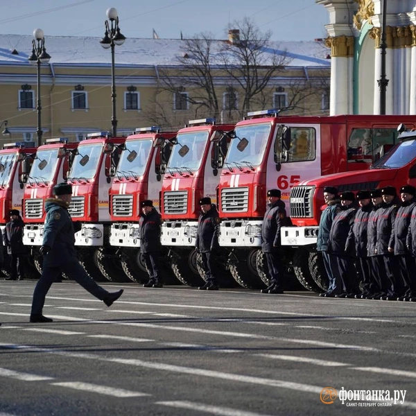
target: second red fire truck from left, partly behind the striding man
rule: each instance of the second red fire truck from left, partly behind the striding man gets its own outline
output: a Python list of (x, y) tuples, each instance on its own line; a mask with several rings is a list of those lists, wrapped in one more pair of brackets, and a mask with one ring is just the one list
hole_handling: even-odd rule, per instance
[(39, 272), (42, 272), (42, 245), (46, 213), (44, 201), (53, 197), (53, 187), (68, 178), (71, 162), (78, 143), (68, 143), (66, 137), (47, 139), (37, 148), (31, 173), (23, 196), (23, 219), (25, 223), (23, 243), (31, 250), (31, 256)]

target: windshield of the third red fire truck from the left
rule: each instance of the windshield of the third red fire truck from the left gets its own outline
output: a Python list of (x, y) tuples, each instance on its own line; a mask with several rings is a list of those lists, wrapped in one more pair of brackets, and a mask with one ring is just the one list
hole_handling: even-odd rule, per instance
[(69, 179), (93, 179), (103, 153), (103, 144), (80, 144), (72, 163)]

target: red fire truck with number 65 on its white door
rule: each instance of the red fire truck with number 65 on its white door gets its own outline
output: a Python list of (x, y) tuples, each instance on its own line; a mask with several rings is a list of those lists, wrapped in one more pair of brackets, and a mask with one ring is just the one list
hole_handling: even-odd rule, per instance
[[(280, 189), (291, 218), (302, 217), (300, 206), (309, 201), (311, 188), (297, 187), (289, 207), (294, 185), (369, 168), (397, 142), (399, 122), (415, 121), (413, 116), (279, 116), (276, 110), (266, 110), (249, 113), (237, 123), (218, 189), (220, 245), (232, 249), (229, 267), (234, 279), (244, 287), (268, 284), (259, 250), (268, 189)], [(289, 250), (285, 257), (300, 282), (318, 290), (306, 273), (304, 250)]]

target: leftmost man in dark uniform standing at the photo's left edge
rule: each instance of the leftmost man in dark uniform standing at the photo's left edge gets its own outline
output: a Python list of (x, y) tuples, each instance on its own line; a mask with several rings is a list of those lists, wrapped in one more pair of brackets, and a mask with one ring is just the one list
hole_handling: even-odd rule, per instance
[(10, 221), (3, 230), (3, 243), (10, 256), (10, 277), (6, 280), (23, 280), (24, 263), (27, 254), (23, 244), (24, 222), (18, 209), (10, 211)]

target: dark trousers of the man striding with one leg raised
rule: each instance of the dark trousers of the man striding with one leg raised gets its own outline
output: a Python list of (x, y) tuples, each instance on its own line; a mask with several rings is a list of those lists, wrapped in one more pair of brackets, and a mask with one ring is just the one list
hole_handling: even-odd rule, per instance
[(32, 315), (42, 315), (46, 294), (53, 282), (62, 272), (64, 272), (69, 279), (73, 279), (83, 286), (86, 291), (91, 293), (97, 299), (104, 300), (105, 297), (107, 297), (108, 292), (101, 286), (98, 286), (98, 284), (87, 275), (83, 266), (78, 263), (78, 259), (73, 257), (71, 261), (67, 261), (67, 263), (64, 263), (62, 266), (43, 266), (42, 277), (37, 281), (35, 291), (33, 292)]

